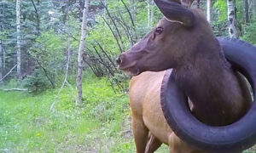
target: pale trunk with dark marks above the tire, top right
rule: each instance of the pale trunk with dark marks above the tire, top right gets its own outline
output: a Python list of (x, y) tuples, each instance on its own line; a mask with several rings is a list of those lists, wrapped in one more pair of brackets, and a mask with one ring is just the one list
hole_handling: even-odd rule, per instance
[(227, 0), (228, 7), (228, 23), (229, 23), (229, 34), (232, 38), (238, 37), (238, 32), (236, 29), (236, 3), (235, 0)]

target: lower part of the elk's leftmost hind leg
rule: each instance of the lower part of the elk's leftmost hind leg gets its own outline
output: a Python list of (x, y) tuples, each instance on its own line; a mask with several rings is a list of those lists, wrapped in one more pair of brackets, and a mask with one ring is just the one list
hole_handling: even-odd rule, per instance
[(143, 117), (133, 115), (131, 123), (137, 153), (144, 153), (148, 141), (148, 128), (143, 122)]

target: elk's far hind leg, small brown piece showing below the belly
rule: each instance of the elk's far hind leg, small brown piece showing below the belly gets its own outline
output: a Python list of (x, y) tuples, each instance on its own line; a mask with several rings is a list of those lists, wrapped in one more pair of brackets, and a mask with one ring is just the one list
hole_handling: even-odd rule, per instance
[(148, 144), (145, 153), (153, 153), (161, 146), (161, 142), (152, 133), (148, 133)]

